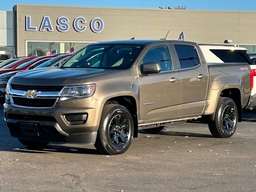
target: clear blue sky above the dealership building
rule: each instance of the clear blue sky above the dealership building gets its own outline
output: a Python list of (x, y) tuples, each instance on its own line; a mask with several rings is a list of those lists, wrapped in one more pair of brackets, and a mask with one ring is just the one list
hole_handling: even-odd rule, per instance
[(2, 0), (0, 10), (12, 10), (15, 4), (46, 4), (64, 6), (158, 8), (186, 5), (196, 10), (256, 11), (256, 0)]

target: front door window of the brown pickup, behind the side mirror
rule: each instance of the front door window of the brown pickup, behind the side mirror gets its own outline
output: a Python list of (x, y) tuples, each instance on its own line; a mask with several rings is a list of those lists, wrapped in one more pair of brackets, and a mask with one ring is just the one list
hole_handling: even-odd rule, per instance
[(142, 59), (143, 63), (156, 62), (161, 71), (172, 70), (172, 61), (167, 46), (157, 46), (150, 49)]

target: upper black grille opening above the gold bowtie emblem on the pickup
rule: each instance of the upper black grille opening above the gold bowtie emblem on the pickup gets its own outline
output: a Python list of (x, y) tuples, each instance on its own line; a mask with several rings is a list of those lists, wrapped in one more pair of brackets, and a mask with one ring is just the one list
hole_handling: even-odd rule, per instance
[(28, 90), (36, 90), (41, 92), (60, 92), (63, 86), (33, 86), (33, 85), (15, 85), (11, 84), (13, 90), (21, 90), (21, 91), (28, 91)]

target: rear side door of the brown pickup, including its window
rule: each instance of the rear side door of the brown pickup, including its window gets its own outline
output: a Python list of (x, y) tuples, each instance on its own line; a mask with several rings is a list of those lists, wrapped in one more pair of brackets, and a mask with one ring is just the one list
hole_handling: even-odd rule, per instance
[(172, 45), (181, 79), (180, 110), (181, 115), (201, 115), (206, 105), (208, 90), (208, 68), (200, 60), (193, 44), (176, 43)]

